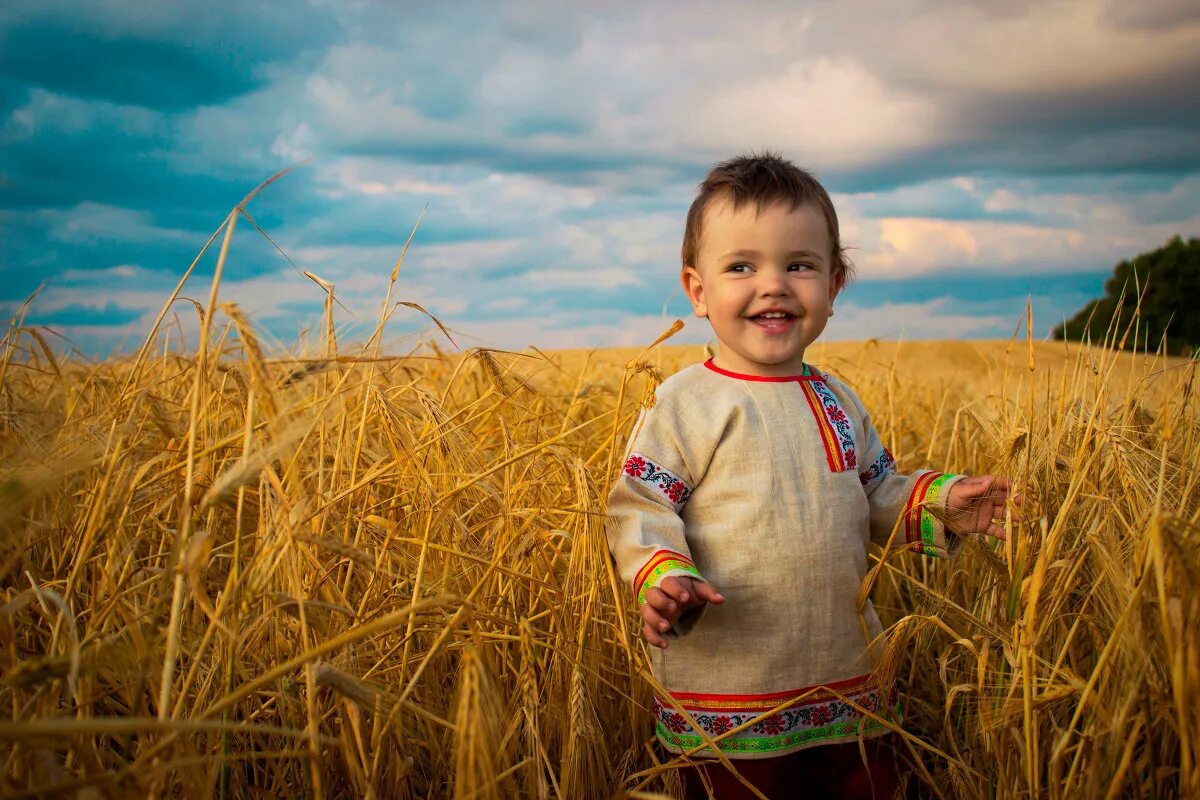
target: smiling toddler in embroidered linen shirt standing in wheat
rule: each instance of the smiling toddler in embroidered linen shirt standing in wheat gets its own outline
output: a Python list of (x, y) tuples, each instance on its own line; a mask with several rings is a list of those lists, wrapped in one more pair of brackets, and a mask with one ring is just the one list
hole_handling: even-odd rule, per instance
[[(608, 495), (610, 547), (673, 700), (655, 698), (659, 740), (703, 745), (676, 705), (713, 739), (744, 726), (716, 746), (773, 800), (896, 787), (894, 764), (859, 757), (887, 728), (841, 699), (899, 718), (872, 675), (882, 626), (858, 608), (868, 543), (898, 519), (893, 547), (928, 555), (948, 553), (940, 518), (1004, 533), (1007, 480), (899, 475), (854, 392), (805, 363), (848, 271), (811, 175), (769, 154), (718, 164), (688, 212), (682, 281), (719, 351), (659, 386)], [(706, 771), (718, 798), (754, 796)]]

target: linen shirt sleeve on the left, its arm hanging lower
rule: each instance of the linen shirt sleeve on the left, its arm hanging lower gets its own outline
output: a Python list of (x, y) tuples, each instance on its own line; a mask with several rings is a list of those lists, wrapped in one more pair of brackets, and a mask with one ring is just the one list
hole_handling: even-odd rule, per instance
[[(605, 533), (620, 578), (632, 587), (638, 607), (646, 593), (672, 576), (703, 581), (691, 560), (680, 512), (703, 465), (689, 447), (684, 415), (673, 403), (643, 409), (625, 461), (608, 493)], [(702, 609), (700, 609), (702, 610)], [(674, 626), (683, 633), (700, 618)]]

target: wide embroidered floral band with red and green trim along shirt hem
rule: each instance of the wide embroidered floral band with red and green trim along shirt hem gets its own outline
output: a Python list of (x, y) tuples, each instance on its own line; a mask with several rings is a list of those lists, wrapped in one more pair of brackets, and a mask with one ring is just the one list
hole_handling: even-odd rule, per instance
[[(836, 692), (829, 691), (830, 688)], [(858, 711), (845, 698), (872, 714), (900, 720), (900, 704), (895, 686), (881, 694), (871, 675), (863, 675), (827, 688), (799, 688), (773, 694), (684, 694), (672, 693), (673, 699), (695, 720), (708, 736), (716, 738), (740, 726), (734, 734), (716, 742), (725, 753), (766, 753), (794, 750), (820, 741), (882, 733), (886, 726)], [(804, 697), (806, 694), (806, 697)], [(790, 696), (799, 696), (794, 704), (774, 714)], [(686, 716), (654, 698), (654, 716), (659, 739), (671, 748), (690, 750), (703, 746), (703, 738)]]

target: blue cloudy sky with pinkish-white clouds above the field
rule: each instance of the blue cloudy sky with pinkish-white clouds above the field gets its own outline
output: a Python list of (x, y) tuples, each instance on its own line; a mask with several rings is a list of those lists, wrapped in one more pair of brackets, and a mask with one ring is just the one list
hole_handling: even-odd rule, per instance
[[(1200, 5), (174, 2), (0, 11), (0, 311), (140, 343), (229, 209), (463, 347), (638, 344), (674, 318), (713, 162), (772, 149), (834, 194), (858, 279), (832, 338), (1038, 333), (1112, 265), (1200, 235)], [(216, 248), (214, 248), (215, 251)], [(204, 300), (215, 259), (184, 294)], [(281, 347), (324, 293), (239, 223), (223, 299)], [(174, 331), (194, 331), (191, 303)], [(391, 345), (427, 319), (402, 308)]]

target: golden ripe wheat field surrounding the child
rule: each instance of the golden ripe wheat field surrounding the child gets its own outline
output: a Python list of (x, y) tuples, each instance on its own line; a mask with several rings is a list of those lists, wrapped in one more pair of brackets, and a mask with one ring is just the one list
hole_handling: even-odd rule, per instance
[[(340, 349), (330, 291), (320, 341), (264, 351), (220, 300), (228, 245), (186, 350), (89, 362), (8, 327), (0, 794), (673, 796), (602, 515), (640, 407), (703, 349), (434, 330), (389, 355), (390, 293)], [(1121, 325), (809, 361), (901, 471), (1025, 498), (1007, 541), (876, 553), (913, 793), (1200, 796), (1195, 361)]]

